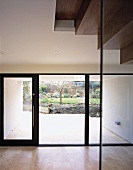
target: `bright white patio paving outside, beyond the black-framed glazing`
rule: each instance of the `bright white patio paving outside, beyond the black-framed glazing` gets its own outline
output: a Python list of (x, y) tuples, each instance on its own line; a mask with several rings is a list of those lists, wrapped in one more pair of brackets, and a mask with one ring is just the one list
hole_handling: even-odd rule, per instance
[[(7, 139), (31, 139), (32, 114), (24, 112), (23, 123)], [(84, 114), (39, 114), (40, 144), (83, 144)], [(90, 117), (90, 143), (99, 143), (99, 118)], [(103, 143), (128, 143), (111, 131), (103, 128)]]

